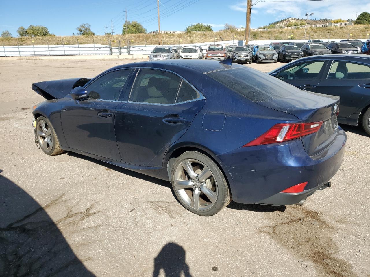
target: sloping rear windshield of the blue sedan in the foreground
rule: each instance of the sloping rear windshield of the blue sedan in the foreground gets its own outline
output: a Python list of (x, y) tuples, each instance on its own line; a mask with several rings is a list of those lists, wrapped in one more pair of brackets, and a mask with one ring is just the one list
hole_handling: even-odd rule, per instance
[(248, 68), (230, 68), (205, 74), (253, 102), (285, 98), (298, 90), (266, 73)]

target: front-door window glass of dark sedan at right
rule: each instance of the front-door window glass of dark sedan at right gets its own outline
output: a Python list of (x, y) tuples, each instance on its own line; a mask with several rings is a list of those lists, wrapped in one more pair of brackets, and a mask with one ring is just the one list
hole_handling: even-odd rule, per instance
[(304, 62), (279, 72), (279, 79), (318, 79), (324, 61)]

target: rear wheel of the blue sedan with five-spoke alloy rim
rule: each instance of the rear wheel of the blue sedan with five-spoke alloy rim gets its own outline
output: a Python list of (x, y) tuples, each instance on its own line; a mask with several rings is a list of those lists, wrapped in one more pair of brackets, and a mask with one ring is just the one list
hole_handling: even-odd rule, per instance
[(230, 203), (225, 176), (206, 155), (197, 151), (185, 152), (176, 159), (171, 172), (175, 195), (189, 211), (211, 216)]

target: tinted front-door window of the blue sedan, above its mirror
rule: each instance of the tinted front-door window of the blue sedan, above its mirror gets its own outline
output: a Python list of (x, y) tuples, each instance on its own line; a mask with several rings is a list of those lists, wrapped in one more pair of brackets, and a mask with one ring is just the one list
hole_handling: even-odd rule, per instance
[(91, 99), (118, 100), (130, 72), (131, 69), (122, 69), (99, 77), (87, 86), (87, 95)]

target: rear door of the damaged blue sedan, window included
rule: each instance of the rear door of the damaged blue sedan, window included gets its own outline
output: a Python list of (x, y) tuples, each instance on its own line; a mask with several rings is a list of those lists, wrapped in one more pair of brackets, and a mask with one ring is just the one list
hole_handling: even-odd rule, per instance
[(205, 103), (192, 85), (163, 69), (138, 69), (131, 92), (116, 109), (122, 161), (161, 167), (169, 146), (188, 129)]

